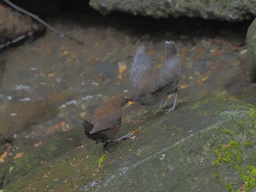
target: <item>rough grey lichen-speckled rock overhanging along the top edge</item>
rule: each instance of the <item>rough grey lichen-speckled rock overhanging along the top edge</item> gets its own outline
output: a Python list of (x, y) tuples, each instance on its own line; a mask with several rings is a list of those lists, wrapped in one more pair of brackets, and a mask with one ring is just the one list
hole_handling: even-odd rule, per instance
[[(128, 12), (132, 15), (168, 18), (188, 16), (214, 20), (246, 20), (256, 14), (254, 1), (119, 1), (91, 0), (90, 6), (102, 15), (113, 11)], [(219, 11), (221, 10), (221, 11)]]

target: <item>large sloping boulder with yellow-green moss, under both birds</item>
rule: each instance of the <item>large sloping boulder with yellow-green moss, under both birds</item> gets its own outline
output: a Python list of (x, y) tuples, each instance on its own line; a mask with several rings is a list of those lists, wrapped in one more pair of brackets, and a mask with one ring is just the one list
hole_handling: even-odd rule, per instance
[(255, 126), (256, 107), (244, 101), (213, 97), (180, 103), (167, 115), (129, 120), (120, 135), (132, 131), (133, 139), (106, 150), (86, 139), (83, 147), (6, 190), (255, 190)]

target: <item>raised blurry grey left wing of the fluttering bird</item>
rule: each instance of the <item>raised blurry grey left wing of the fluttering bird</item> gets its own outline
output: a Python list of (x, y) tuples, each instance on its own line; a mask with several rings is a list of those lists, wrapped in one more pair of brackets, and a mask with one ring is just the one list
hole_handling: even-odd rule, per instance
[(140, 82), (140, 77), (145, 73), (153, 69), (153, 58), (146, 53), (145, 47), (140, 46), (135, 52), (135, 57), (132, 63), (131, 80), (132, 84), (137, 87)]

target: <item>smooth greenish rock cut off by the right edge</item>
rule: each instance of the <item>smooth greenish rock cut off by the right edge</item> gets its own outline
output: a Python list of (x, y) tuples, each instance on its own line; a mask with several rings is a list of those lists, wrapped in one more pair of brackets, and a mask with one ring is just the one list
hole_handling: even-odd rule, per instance
[(249, 77), (256, 82), (256, 19), (249, 26), (246, 34), (247, 54), (249, 57)]

